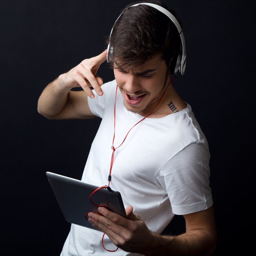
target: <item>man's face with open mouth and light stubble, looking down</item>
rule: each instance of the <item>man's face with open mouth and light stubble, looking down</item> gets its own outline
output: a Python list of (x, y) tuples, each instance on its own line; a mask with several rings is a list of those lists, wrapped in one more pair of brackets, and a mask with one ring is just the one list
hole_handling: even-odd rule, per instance
[(114, 75), (125, 107), (142, 116), (155, 108), (169, 80), (166, 62), (159, 56), (136, 69), (123, 70), (115, 64)]

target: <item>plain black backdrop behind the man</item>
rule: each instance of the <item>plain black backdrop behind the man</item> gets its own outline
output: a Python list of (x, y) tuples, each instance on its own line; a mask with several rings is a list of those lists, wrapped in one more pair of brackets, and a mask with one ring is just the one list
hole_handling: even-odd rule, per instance
[[(1, 255), (60, 254), (70, 224), (45, 172), (80, 179), (100, 120), (49, 121), (37, 100), (59, 74), (106, 48), (130, 2), (1, 0)], [(166, 3), (180, 13), (186, 40), (186, 73), (174, 87), (191, 104), (211, 151), (215, 255), (247, 255), (255, 230), (255, 4)], [(99, 75), (114, 78), (106, 63)], [(178, 234), (179, 225), (183, 219), (175, 217), (169, 231)]]

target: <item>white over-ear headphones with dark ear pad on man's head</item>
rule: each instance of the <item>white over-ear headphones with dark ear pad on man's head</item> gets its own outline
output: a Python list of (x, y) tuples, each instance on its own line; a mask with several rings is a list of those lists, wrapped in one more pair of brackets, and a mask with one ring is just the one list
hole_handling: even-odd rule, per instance
[[(157, 9), (158, 11), (161, 11), (168, 18), (170, 18), (170, 20), (173, 22), (173, 24), (177, 28), (177, 30), (179, 32), (179, 35), (180, 35), (180, 39), (181, 39), (182, 51), (179, 51), (175, 56), (173, 56), (173, 59), (171, 61), (171, 65), (170, 65), (170, 71), (174, 75), (177, 75), (178, 72), (180, 72), (182, 75), (184, 75), (185, 68), (186, 68), (186, 48), (185, 48), (184, 35), (183, 35), (183, 32), (182, 32), (182, 29), (180, 27), (179, 22), (173, 16), (173, 14), (171, 14), (169, 11), (167, 11), (166, 9), (164, 9), (163, 7), (161, 7), (161, 6), (157, 5), (157, 4), (139, 3), (139, 4), (134, 4), (134, 5), (130, 6), (130, 7), (137, 6), (137, 5), (140, 5), (140, 4), (145, 4), (145, 5), (148, 5), (148, 6), (151, 6), (151, 7), (155, 8), (155, 9)], [(130, 8), (130, 7), (128, 7), (128, 8)], [(126, 11), (127, 9), (125, 9), (124, 11)], [(119, 15), (117, 20), (120, 18), (122, 13)], [(115, 23), (117, 22), (117, 20), (115, 21)], [(113, 28), (115, 27), (115, 23), (114, 23), (114, 25), (113, 25), (113, 27), (111, 29), (110, 36), (109, 36), (108, 52), (107, 52), (107, 61), (108, 62), (110, 62), (112, 60), (111, 56), (113, 54), (113, 46), (110, 46), (110, 37), (111, 37), (112, 31), (113, 31)]]

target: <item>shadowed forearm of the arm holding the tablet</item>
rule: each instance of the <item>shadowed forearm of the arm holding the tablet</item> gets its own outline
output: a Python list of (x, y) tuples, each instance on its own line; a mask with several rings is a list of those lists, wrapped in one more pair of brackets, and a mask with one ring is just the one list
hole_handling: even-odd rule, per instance
[(153, 234), (146, 256), (210, 256), (216, 240), (205, 230), (193, 230), (179, 236)]

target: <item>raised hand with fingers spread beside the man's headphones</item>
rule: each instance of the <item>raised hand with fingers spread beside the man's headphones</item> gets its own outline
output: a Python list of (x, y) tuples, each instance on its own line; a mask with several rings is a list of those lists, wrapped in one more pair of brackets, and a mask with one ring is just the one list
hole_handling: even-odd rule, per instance
[(90, 87), (94, 88), (99, 96), (103, 95), (101, 85), (103, 80), (97, 76), (100, 65), (106, 61), (107, 50), (98, 56), (88, 58), (72, 68), (67, 73), (61, 74), (58, 79), (67, 88), (81, 87), (90, 98), (94, 98), (94, 94)]

